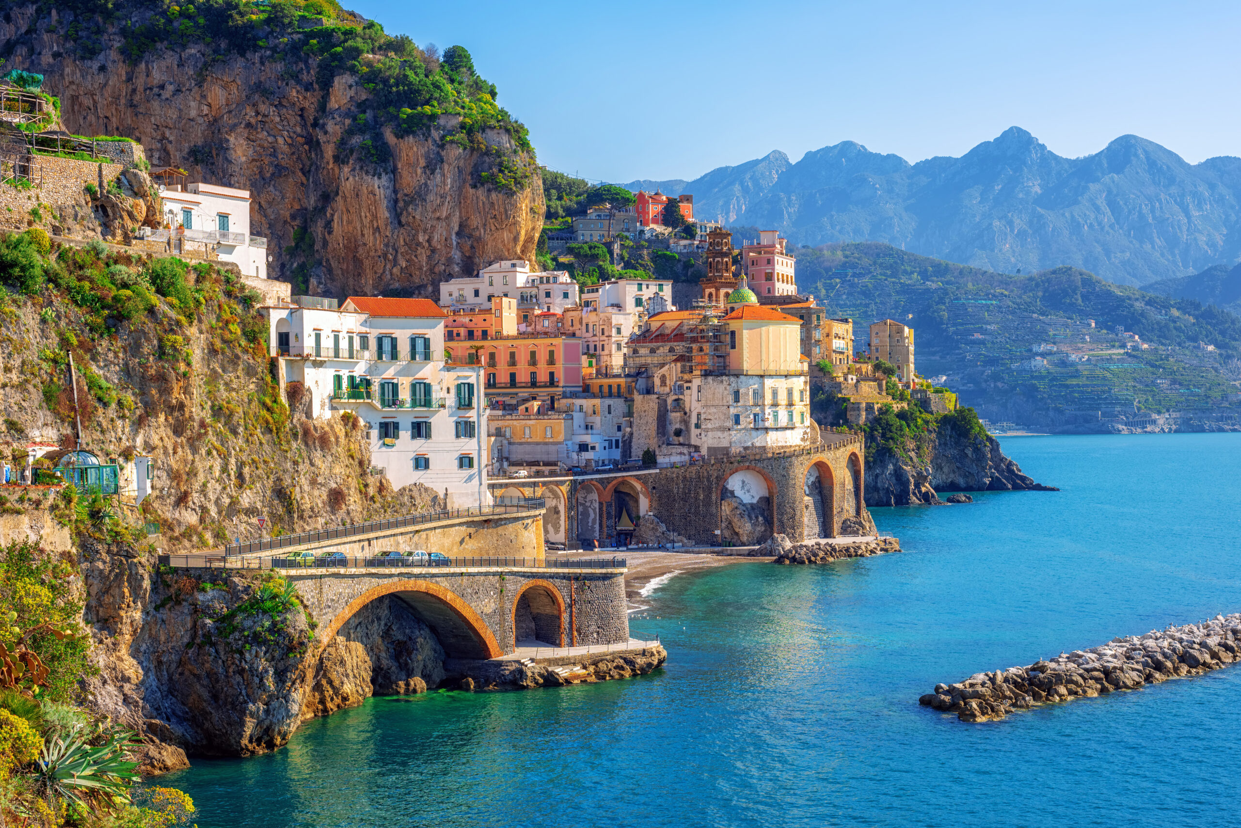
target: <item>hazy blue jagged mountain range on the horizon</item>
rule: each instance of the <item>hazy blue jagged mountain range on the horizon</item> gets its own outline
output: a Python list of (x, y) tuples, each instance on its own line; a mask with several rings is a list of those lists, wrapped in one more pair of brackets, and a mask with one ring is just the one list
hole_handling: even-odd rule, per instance
[(917, 164), (844, 142), (795, 164), (773, 151), (688, 182), (624, 186), (694, 194), (699, 218), (798, 245), (882, 241), (1001, 273), (1072, 266), (1143, 286), (1241, 259), (1241, 158), (1189, 164), (1137, 135), (1071, 159), (1011, 127)]

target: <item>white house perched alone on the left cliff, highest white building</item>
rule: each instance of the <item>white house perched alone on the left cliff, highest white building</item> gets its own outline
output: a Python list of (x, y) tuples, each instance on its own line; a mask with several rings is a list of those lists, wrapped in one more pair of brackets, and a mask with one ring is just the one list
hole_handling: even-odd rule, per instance
[(160, 187), (164, 221), (171, 231), (148, 232), (146, 238), (182, 238), (216, 246), (226, 262), (246, 276), (267, 278), (267, 240), (249, 235), (249, 190), (217, 184), (180, 184)]

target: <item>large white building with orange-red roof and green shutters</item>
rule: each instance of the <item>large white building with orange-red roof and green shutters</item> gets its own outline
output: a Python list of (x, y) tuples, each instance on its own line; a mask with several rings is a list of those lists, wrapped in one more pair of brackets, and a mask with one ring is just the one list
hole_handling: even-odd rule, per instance
[(480, 366), (444, 364), (444, 312), (429, 299), (318, 303), (333, 307), (264, 308), (282, 394), (302, 382), (316, 420), (355, 412), (393, 487), (447, 492), (450, 508), (485, 504)]

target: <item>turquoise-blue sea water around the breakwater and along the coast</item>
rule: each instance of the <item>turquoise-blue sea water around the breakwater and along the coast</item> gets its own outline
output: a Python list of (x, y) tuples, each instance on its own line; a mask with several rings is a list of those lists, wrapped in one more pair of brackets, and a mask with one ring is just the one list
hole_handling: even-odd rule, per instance
[[(1060, 492), (875, 509), (903, 552), (680, 575), (654, 674), (371, 699), (163, 777), (200, 828), (1235, 826), (1241, 665), (967, 725), (937, 682), (1241, 611), (1241, 434), (1023, 437)], [(659, 616), (659, 617), (656, 617)]]

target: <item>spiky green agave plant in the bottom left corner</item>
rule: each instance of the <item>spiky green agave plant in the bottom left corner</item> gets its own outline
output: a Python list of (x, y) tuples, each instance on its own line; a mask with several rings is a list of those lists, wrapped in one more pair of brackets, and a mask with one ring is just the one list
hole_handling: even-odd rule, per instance
[(40, 793), (53, 809), (58, 803), (81, 804), (93, 811), (112, 811), (129, 802), (129, 787), (140, 777), (138, 762), (125, 758), (137, 747), (132, 732), (112, 734), (102, 745), (88, 745), (81, 732), (43, 744), (35, 763)]

